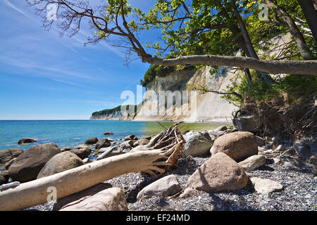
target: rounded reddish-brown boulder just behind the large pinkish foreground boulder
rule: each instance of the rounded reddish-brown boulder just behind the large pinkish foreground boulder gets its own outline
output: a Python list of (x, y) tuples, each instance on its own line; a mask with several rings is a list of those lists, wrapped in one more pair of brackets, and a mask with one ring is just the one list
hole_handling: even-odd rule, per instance
[(237, 131), (218, 137), (211, 148), (211, 155), (225, 153), (235, 161), (258, 155), (258, 144), (254, 134)]

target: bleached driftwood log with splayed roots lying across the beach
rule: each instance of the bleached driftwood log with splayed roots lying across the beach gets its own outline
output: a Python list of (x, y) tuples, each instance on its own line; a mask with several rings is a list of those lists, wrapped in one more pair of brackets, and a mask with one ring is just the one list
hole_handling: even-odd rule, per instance
[(63, 198), (116, 176), (130, 172), (146, 172), (159, 176), (175, 165), (182, 154), (182, 139), (178, 124), (162, 131), (151, 140), (149, 150), (116, 155), (104, 160), (82, 165), (65, 172), (20, 184), (0, 193), (0, 210), (20, 210), (47, 202), (48, 195), (56, 188), (56, 197)]

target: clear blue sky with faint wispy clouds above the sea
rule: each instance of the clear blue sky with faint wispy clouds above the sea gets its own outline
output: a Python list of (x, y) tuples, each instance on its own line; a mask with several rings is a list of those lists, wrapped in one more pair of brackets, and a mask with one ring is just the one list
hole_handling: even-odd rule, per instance
[[(153, 1), (132, 3), (147, 10)], [(0, 21), (0, 120), (89, 119), (123, 103), (122, 91), (136, 92), (149, 68), (140, 60), (125, 66), (123, 53), (106, 41), (84, 46), (92, 30), (71, 38), (46, 32), (23, 0), (0, 0)]]

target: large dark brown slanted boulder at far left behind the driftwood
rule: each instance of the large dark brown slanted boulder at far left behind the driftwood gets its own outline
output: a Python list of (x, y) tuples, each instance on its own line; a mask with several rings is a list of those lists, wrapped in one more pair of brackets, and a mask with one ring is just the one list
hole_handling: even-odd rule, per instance
[(55, 143), (32, 146), (14, 160), (8, 174), (14, 181), (35, 180), (46, 162), (58, 153), (61, 153), (61, 150)]

